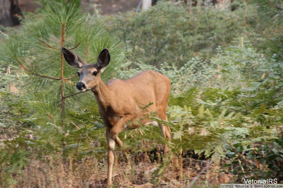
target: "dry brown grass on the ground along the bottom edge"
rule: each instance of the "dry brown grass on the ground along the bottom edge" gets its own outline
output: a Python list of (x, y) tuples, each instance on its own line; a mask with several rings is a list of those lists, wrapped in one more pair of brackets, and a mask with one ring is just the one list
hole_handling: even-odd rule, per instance
[[(178, 165), (174, 161), (177, 160), (171, 161), (153, 187), (184, 187), (207, 164), (207, 161), (184, 158), (183, 177), (180, 177), (180, 170), (176, 168)], [(113, 184), (116, 187), (146, 187), (140, 185), (151, 182), (153, 171), (161, 163), (151, 162), (142, 154), (115, 152)], [(40, 159), (32, 158), (21, 173), (13, 174), (17, 183), (11, 187), (106, 187), (106, 164), (107, 160), (92, 157), (88, 157), (84, 162), (69, 157), (64, 162), (62, 153), (42, 156)], [(221, 166), (212, 164), (206, 173), (199, 177), (195, 187), (215, 187), (220, 183), (227, 183), (231, 176), (222, 173), (220, 169)]]

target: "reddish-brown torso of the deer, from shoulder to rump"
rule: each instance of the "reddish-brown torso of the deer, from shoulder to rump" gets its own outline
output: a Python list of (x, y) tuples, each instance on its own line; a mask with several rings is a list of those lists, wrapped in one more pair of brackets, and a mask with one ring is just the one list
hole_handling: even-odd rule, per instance
[(146, 70), (127, 80), (112, 80), (107, 85), (112, 88), (117, 99), (119, 96), (121, 101), (116, 101), (117, 105), (123, 104), (127, 109), (149, 103), (153, 103), (149, 111), (158, 111), (160, 106), (167, 108), (171, 84), (163, 74)]

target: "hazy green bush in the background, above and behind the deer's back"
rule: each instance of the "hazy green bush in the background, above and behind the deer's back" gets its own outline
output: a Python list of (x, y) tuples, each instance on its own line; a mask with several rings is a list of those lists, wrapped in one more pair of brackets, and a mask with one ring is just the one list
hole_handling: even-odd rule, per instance
[(181, 67), (199, 55), (209, 63), (217, 46), (255, 35), (258, 18), (252, 14), (252, 6), (241, 2), (231, 12), (230, 8), (187, 7), (180, 2), (160, 1), (138, 14), (127, 12), (106, 18), (110, 31), (124, 42), (129, 61), (158, 68), (163, 62)]

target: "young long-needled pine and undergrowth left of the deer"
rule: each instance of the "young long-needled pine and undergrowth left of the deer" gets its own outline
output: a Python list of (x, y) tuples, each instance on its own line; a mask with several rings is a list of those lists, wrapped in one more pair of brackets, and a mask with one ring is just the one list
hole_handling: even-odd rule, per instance
[[(93, 155), (92, 139), (104, 132), (103, 122), (93, 94), (77, 93), (77, 70), (64, 61), (60, 47), (73, 48), (90, 63), (96, 63), (99, 52), (107, 47), (111, 62), (102, 79), (108, 81), (116, 76), (113, 72), (117, 72), (124, 59), (119, 42), (100, 24), (88, 24), (80, 8), (62, 4), (47, 5), (40, 17), (24, 23), (19, 36), (8, 36), (4, 41), (5, 46), (0, 49), (3, 60), (0, 92), (4, 98), (0, 99), (5, 105), (1, 106), (0, 130), (1, 138), (7, 140), (5, 144), (30, 146), (35, 153), (37, 148), (45, 154), (63, 152), (64, 158)], [(23, 86), (19, 86), (21, 83)], [(28, 139), (30, 134), (36, 140)], [(16, 136), (19, 138), (14, 139)], [(103, 152), (94, 154), (99, 156)], [(24, 160), (24, 155), (18, 157), (19, 162)], [(7, 162), (3, 168), (8, 168)], [(6, 173), (11, 175), (14, 171)], [(5, 180), (1, 180), (3, 185), (13, 184)]]

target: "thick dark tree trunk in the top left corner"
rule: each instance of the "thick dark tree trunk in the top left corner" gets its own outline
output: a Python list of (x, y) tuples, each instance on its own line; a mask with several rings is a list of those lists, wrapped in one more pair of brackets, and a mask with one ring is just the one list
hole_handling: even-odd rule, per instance
[(19, 16), (22, 15), (19, 9), (18, 0), (0, 0), (0, 24), (7, 26), (19, 25)]

